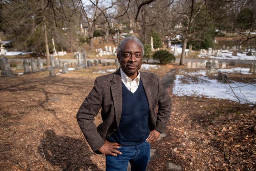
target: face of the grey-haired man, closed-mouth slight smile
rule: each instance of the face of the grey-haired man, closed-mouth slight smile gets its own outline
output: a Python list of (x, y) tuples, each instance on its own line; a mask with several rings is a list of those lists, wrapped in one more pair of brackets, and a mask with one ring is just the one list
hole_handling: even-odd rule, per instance
[[(124, 42), (118, 54), (121, 68), (128, 77), (136, 77), (142, 62), (142, 48), (134, 40)], [(133, 78), (133, 79), (134, 79)]]

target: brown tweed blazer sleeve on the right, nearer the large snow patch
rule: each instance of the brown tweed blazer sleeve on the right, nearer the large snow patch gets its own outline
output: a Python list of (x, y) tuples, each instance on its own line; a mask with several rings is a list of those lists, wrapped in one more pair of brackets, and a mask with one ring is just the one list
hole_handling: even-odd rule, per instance
[[(157, 77), (157, 76), (156, 76)], [(169, 97), (167, 91), (165, 91), (163, 85), (161, 84), (159, 78), (158, 82), (158, 112), (157, 112), (157, 122), (155, 130), (160, 132), (165, 132), (169, 117), (171, 115), (171, 97)]]

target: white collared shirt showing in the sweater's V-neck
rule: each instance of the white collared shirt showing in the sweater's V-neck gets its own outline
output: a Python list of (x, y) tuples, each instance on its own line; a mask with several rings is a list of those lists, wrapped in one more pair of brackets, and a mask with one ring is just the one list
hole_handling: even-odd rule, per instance
[(129, 78), (124, 71), (122, 70), (122, 68), (120, 68), (121, 71), (121, 79), (122, 82), (124, 83), (124, 85), (127, 87), (127, 89), (134, 93), (137, 89), (138, 89), (138, 85), (140, 83), (140, 72), (138, 71), (138, 75), (136, 76), (136, 78), (132, 81), (132, 78)]

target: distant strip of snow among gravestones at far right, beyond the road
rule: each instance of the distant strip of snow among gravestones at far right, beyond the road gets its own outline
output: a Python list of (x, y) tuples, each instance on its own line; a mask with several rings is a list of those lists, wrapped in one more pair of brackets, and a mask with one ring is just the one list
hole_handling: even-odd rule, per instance
[[(219, 56), (209, 56), (209, 58), (219, 59), (219, 60), (256, 60), (255, 55), (248, 56), (248, 55), (246, 55), (246, 52), (243, 52), (243, 53), (237, 52), (237, 56), (232, 56), (232, 53), (233, 52), (229, 52), (228, 50), (222, 50), (222, 52), (220, 52)], [(199, 54), (198, 55), (198, 57), (200, 57), (200, 58), (204, 58), (205, 56), (208, 56), (208, 54), (206, 54), (206, 55)]]

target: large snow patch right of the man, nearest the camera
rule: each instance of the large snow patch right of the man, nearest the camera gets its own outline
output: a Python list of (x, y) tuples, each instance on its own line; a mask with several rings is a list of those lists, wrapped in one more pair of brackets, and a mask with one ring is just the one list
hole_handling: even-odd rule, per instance
[[(198, 72), (200, 74), (200, 72)], [(193, 73), (192, 75), (196, 75)], [(245, 84), (242, 82), (221, 83), (218, 80), (210, 79), (205, 76), (197, 76), (198, 81), (193, 82), (187, 76), (176, 75), (173, 87), (173, 94), (177, 96), (195, 95), (201, 97), (202, 95), (208, 98), (229, 99), (231, 101), (241, 101), (241, 103), (256, 103), (256, 86)], [(185, 79), (188, 83), (182, 83)], [(239, 100), (232, 93), (232, 89), (239, 98)]]

